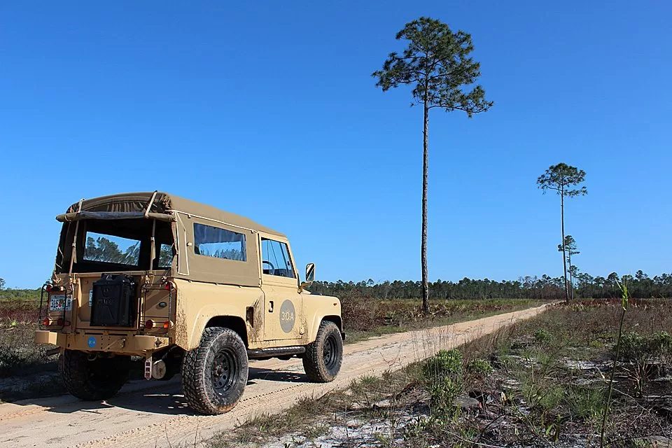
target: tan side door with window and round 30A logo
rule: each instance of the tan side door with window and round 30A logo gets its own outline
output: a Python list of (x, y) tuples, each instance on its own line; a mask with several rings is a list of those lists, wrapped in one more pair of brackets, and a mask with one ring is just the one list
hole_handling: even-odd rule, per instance
[(265, 339), (300, 339), (304, 333), (303, 299), (289, 246), (281, 239), (262, 236), (260, 247)]

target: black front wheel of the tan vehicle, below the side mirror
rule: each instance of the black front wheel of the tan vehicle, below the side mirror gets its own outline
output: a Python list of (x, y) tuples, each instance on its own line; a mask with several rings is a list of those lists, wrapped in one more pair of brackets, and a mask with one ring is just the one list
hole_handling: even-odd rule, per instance
[(322, 321), (315, 342), (306, 346), (303, 368), (310, 381), (328, 383), (341, 370), (343, 362), (343, 339), (341, 331), (333, 322)]

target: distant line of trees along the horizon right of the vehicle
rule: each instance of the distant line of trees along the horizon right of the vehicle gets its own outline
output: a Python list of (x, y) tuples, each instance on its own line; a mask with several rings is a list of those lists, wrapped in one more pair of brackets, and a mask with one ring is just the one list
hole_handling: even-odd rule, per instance
[[(575, 299), (619, 297), (616, 284), (619, 275), (612, 272), (606, 277), (577, 273), (575, 276)], [(672, 273), (660, 274), (650, 278), (644, 272), (637, 271), (634, 276), (626, 275), (628, 290), (633, 298), (672, 297)], [(437, 280), (430, 282), (430, 299), (547, 299), (563, 300), (566, 297), (563, 276), (552, 278), (548, 275), (524, 276), (517, 280), (468, 279), (460, 281)], [(322, 295), (358, 295), (372, 299), (388, 298), (421, 299), (420, 281), (315, 281), (309, 287), (311, 293)]]

